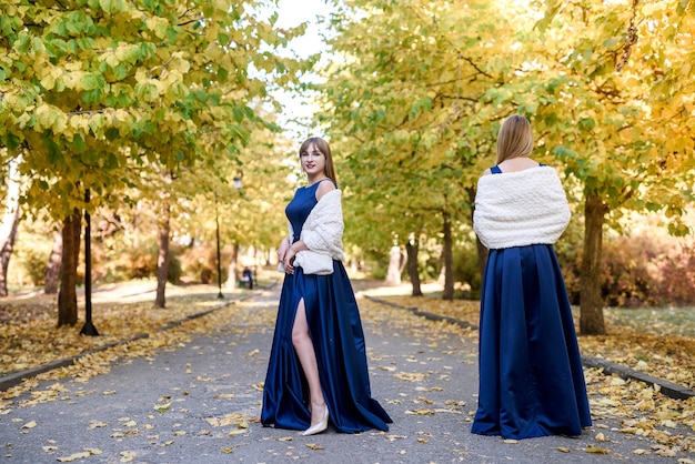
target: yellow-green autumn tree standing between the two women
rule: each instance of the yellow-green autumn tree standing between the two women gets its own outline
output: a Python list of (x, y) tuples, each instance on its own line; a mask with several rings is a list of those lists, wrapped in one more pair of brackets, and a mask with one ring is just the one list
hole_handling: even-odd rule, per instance
[[(459, 224), (470, 221), (481, 158), (492, 154), (496, 121), (514, 111), (491, 94), (514, 78), (518, 60), (506, 47), (520, 20), (511, 7), (355, 0), (334, 19), (331, 44), (341, 59), (322, 99), (330, 132), (345, 139), (355, 203), (365, 206), (360, 221), (380, 221), (365, 229), (372, 240), (381, 231), (382, 242), (440, 236), (444, 299), (453, 297), (452, 248), (465, 240)], [(383, 226), (385, 218), (396, 229)]]

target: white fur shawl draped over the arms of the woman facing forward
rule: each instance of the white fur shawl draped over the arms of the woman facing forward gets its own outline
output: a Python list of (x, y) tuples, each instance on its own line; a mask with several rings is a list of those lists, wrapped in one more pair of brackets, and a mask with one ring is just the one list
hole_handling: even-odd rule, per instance
[[(309, 213), (300, 239), (309, 248), (296, 253), (294, 265), (305, 274), (332, 274), (333, 260), (343, 260), (343, 208), (339, 189), (325, 193)], [(290, 224), (290, 242), (294, 236)], [(280, 268), (281, 271), (284, 269)]]

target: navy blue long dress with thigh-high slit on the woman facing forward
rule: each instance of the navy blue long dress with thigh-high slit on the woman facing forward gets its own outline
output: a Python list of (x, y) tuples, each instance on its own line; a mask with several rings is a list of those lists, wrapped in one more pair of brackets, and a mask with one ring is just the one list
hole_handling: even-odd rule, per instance
[[(316, 205), (320, 182), (298, 189), (285, 213), (294, 241)], [(305, 430), (311, 423), (309, 387), (292, 345), (296, 307), (304, 299), (306, 322), (316, 353), (321, 389), (330, 420), (341, 432), (387, 431), (391, 417), (371, 397), (362, 322), (343, 263), (333, 260), (330, 275), (285, 274), (275, 334), (263, 389), (261, 422), (265, 426)]]

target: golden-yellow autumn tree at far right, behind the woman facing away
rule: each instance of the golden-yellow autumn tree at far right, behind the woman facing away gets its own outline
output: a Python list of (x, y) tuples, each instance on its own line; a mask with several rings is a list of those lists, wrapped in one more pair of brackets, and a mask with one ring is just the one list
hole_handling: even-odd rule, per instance
[(541, 36), (528, 42), (543, 48), (542, 71), (533, 77), (541, 84), (536, 125), (582, 191), (584, 334), (605, 332), (600, 272), (605, 228), (620, 231), (627, 211), (665, 211), (672, 233), (688, 232), (682, 215), (692, 201), (695, 139), (692, 99), (681, 92), (692, 83), (686, 74), (679, 74), (685, 84), (665, 82), (688, 70), (671, 63), (694, 50), (693, 11), (683, 7), (666, 0), (547, 1)]

